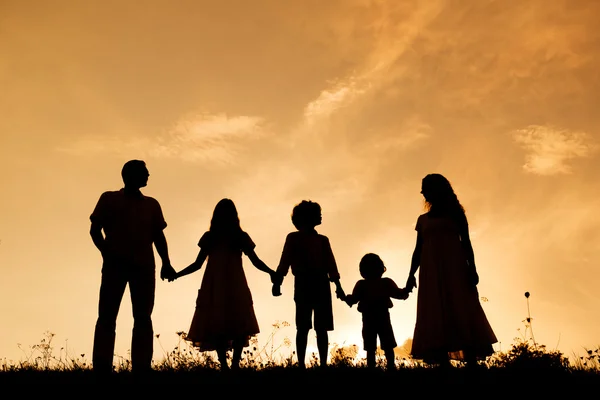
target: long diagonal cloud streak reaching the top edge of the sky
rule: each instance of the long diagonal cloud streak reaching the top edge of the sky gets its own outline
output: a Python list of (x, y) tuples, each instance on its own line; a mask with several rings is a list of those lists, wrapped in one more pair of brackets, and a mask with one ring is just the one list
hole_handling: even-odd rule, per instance
[[(390, 83), (406, 73), (407, 66), (400, 60), (444, 7), (442, 1), (433, 0), (422, 7), (385, 1), (369, 5), (373, 8), (365, 10), (364, 15), (354, 16), (356, 20), (352, 23), (339, 24), (334, 29), (335, 35), (344, 38), (346, 43), (354, 43), (353, 38), (358, 33), (366, 35), (370, 38), (368, 50), (355, 68), (327, 82), (304, 107), (304, 118), (296, 132), (300, 136), (314, 128), (329, 128), (329, 117), (355, 115), (356, 107), (368, 106), (373, 96), (389, 90)], [(319, 122), (324, 124), (318, 125)]]

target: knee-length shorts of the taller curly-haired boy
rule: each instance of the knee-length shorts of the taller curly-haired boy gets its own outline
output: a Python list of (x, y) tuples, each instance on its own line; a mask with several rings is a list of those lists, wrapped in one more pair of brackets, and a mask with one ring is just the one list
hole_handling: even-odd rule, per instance
[(333, 330), (331, 282), (326, 277), (298, 277), (294, 279), (296, 329), (316, 331)]

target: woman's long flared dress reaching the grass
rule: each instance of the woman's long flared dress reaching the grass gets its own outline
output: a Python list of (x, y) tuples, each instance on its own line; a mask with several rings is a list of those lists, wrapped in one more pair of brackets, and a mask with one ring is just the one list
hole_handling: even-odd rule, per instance
[(463, 359), (465, 352), (478, 358), (493, 353), (497, 342), (470, 284), (467, 258), (457, 224), (449, 217), (423, 214), (415, 228), (422, 235), (417, 319), (412, 356), (428, 360), (449, 353)]

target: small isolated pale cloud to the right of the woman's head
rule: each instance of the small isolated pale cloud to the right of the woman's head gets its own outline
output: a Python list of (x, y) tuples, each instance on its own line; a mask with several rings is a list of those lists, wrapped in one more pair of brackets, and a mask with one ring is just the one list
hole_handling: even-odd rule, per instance
[(529, 125), (512, 133), (514, 141), (528, 151), (523, 169), (538, 175), (567, 174), (567, 162), (588, 156), (594, 149), (585, 132), (551, 126)]

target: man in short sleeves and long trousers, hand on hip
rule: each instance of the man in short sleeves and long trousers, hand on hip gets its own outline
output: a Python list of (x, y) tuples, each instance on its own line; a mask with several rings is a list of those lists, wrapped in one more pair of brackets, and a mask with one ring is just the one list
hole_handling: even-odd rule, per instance
[(128, 284), (133, 312), (132, 371), (144, 373), (151, 369), (156, 285), (153, 244), (162, 259), (161, 279), (175, 275), (163, 232), (167, 223), (160, 204), (140, 191), (150, 176), (146, 163), (126, 162), (121, 176), (125, 186), (102, 193), (90, 216), (90, 235), (102, 254), (92, 365), (94, 371), (102, 375), (112, 372), (117, 315)]

